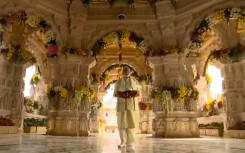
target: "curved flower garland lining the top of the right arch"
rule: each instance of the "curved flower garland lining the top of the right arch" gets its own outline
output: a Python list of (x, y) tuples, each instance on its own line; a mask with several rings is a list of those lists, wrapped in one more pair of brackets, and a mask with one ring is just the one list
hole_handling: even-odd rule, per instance
[[(198, 49), (204, 43), (205, 33), (211, 31), (211, 27), (220, 21), (226, 21), (229, 23), (230, 19), (236, 19), (238, 22), (237, 32), (245, 31), (243, 29), (245, 25), (245, 8), (225, 8), (214, 11), (208, 17), (206, 17), (195, 29), (191, 35), (191, 50), (189, 56), (197, 56)], [(240, 29), (239, 29), (240, 28)]]

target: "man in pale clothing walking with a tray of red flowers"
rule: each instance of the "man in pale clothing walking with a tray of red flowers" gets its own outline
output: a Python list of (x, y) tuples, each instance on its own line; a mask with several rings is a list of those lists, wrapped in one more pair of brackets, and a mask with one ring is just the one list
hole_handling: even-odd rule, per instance
[(123, 77), (115, 83), (114, 96), (117, 97), (117, 124), (121, 144), (118, 148), (126, 147), (127, 151), (134, 150), (134, 128), (137, 124), (139, 84), (130, 76), (130, 69), (124, 67)]

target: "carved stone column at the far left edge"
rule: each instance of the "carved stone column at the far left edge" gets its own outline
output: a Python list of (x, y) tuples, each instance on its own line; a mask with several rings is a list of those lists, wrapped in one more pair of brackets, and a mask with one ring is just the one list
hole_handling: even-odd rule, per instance
[(19, 133), (23, 132), (24, 74), (23, 64), (8, 63), (0, 57), (0, 112), (13, 119)]

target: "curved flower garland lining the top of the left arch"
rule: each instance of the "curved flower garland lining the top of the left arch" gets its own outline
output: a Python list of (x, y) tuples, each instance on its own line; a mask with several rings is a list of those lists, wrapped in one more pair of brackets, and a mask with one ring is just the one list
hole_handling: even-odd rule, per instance
[(55, 34), (51, 30), (51, 26), (48, 25), (45, 20), (34, 15), (27, 15), (24, 11), (8, 14), (3, 18), (0, 18), (0, 27), (3, 27), (3, 29), (6, 30), (9, 35), (13, 35), (12, 25), (15, 23), (24, 23), (25, 30), (23, 36), (26, 36), (28, 31), (39, 29), (38, 34), (42, 38), (42, 41), (47, 48), (47, 56), (57, 56), (58, 46), (56, 43)]

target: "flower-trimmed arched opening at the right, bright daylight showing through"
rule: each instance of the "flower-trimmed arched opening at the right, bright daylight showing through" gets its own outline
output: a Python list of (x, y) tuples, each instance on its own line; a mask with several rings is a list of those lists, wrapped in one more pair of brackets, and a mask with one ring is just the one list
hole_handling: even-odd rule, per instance
[[(240, 80), (245, 53), (244, 18), (244, 8), (215, 10), (194, 30), (189, 46), (188, 55), (199, 57), (198, 73), (203, 76), (197, 84), (200, 93), (198, 123), (207, 125), (218, 122), (217, 125), (226, 132), (240, 123), (239, 120), (244, 120), (242, 111), (238, 112), (240, 116), (236, 120), (229, 115), (224, 118), (225, 113), (237, 111), (234, 108), (239, 104), (234, 102), (237, 101), (234, 90), (243, 87)], [(220, 70), (210, 66), (210, 63), (220, 68), (224, 80), (220, 77)]]

